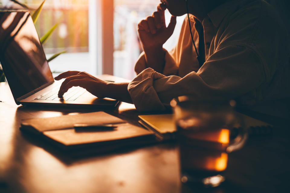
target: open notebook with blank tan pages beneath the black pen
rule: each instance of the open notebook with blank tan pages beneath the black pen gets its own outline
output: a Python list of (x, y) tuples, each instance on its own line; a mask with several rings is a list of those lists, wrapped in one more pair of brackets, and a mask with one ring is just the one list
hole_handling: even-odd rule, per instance
[[(79, 132), (73, 128), (74, 124), (114, 124), (117, 127), (109, 131)], [(105, 112), (26, 119), (22, 121), (20, 129), (39, 134), (63, 150), (89, 146), (105, 150), (156, 141), (151, 131)]]

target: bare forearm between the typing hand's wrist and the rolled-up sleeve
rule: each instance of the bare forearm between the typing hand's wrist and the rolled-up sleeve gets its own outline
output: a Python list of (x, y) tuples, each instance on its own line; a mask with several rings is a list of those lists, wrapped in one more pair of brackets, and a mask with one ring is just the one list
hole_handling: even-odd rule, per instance
[(128, 92), (128, 84), (127, 82), (122, 82), (122, 83), (108, 83), (107, 87), (108, 87), (108, 98), (111, 99), (116, 99), (116, 100), (120, 100), (123, 101), (125, 103), (131, 103), (132, 99), (131, 96)]

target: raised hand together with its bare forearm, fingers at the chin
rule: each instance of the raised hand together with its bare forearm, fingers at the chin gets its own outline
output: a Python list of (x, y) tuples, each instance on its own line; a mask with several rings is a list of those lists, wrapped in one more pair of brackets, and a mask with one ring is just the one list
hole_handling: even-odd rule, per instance
[(152, 16), (138, 24), (138, 34), (145, 53), (146, 67), (153, 68), (159, 73), (163, 72), (165, 65), (163, 44), (172, 35), (176, 25), (176, 17), (172, 16), (168, 27), (166, 27), (165, 10), (166, 6), (159, 4), (157, 11)]

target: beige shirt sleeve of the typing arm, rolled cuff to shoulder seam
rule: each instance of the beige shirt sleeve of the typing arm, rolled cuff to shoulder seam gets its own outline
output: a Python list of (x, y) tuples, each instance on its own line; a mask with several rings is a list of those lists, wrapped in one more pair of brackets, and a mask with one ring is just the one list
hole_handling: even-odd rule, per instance
[(197, 101), (230, 100), (264, 81), (263, 64), (256, 52), (233, 45), (216, 51), (198, 72), (183, 78), (147, 68), (129, 83), (128, 91), (138, 111), (162, 111), (177, 96), (191, 95)]

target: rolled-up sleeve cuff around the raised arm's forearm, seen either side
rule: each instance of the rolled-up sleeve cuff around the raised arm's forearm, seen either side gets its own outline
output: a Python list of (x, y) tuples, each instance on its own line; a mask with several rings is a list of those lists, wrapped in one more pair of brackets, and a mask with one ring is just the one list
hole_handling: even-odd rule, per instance
[[(175, 60), (173, 59), (172, 55), (166, 50), (165, 51), (165, 65), (162, 74), (169, 76), (169, 75), (176, 75), (178, 73), (178, 65), (176, 64)], [(140, 74), (143, 70), (147, 68), (145, 54), (142, 52), (139, 56), (135, 64), (135, 72), (136, 74)]]

